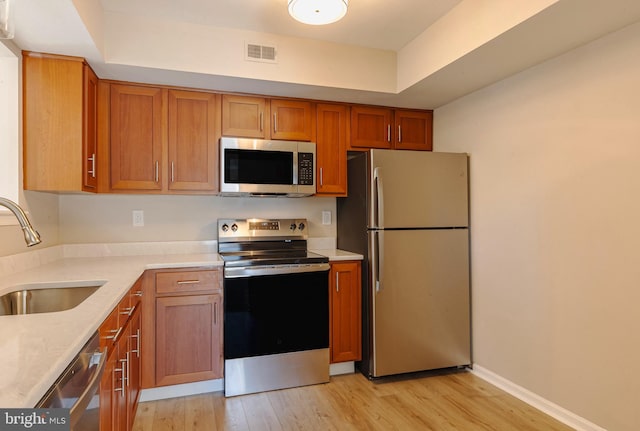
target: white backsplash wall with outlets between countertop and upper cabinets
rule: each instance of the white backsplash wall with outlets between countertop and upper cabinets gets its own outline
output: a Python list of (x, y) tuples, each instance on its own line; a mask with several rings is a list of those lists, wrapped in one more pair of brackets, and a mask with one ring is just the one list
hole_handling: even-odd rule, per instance
[[(134, 227), (132, 211), (144, 211)], [(332, 224), (322, 225), (322, 211)], [(335, 198), (223, 198), (175, 195), (61, 195), (60, 241), (202, 241), (218, 238), (218, 218), (307, 218), (311, 237), (335, 237)]]

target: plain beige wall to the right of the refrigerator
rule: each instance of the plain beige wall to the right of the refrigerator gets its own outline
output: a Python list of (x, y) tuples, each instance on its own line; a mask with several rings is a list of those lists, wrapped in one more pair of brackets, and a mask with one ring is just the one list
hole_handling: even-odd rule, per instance
[(640, 429), (640, 23), (435, 112), (470, 154), (474, 362)]

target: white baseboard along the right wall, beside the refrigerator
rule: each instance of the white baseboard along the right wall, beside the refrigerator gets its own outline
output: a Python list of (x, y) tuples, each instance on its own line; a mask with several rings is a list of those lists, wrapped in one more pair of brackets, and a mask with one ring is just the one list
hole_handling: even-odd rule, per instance
[(480, 365), (473, 365), (472, 372), (481, 379), (499, 387), (503, 391), (508, 392), (514, 397), (559, 420), (565, 425), (576, 429), (577, 431), (607, 431), (605, 428), (589, 422), (585, 418), (578, 416), (545, 398), (542, 398), (540, 395), (537, 395)]

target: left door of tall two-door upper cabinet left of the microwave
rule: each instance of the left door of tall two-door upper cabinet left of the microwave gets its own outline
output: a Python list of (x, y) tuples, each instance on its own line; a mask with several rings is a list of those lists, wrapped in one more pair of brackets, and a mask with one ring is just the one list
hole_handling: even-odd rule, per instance
[(111, 86), (111, 188), (162, 189), (163, 90)]

